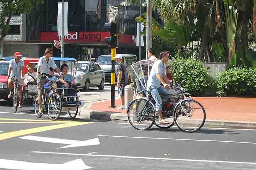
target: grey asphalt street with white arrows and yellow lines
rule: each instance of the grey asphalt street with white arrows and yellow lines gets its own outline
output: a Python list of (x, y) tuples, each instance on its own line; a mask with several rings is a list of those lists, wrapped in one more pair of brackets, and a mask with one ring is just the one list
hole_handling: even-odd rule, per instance
[[(81, 92), (83, 102), (103, 100), (108, 89)], [(0, 104), (1, 169), (256, 169), (255, 130), (138, 131), (127, 123), (38, 119), (32, 107), (15, 114)]]

